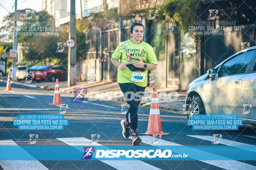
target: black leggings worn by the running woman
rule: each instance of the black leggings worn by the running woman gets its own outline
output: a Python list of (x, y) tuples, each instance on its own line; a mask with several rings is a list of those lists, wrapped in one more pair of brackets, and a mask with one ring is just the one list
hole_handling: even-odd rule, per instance
[(132, 133), (138, 133), (138, 106), (146, 87), (141, 87), (130, 82), (119, 83), (119, 86), (125, 96), (127, 104), (130, 105), (128, 112), (126, 113), (126, 121), (128, 122), (128, 126), (131, 127)]

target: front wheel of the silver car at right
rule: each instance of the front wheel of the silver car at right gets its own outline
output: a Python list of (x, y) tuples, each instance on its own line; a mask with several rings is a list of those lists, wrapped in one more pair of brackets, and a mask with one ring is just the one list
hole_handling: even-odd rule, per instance
[(204, 103), (200, 96), (192, 96), (192, 100), (189, 102), (190, 108), (187, 118), (191, 119), (193, 114), (206, 114), (204, 109)]

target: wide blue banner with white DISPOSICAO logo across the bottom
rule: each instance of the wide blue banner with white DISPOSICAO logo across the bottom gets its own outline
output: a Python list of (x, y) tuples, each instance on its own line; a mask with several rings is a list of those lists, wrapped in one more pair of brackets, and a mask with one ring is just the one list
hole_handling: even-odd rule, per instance
[(256, 146), (0, 146), (0, 160), (256, 160)]

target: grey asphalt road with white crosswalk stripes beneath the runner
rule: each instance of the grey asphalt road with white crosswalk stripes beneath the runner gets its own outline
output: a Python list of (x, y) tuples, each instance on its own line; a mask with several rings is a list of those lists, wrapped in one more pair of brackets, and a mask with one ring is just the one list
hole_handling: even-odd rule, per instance
[[(72, 94), (61, 94), (62, 103), (69, 108), (64, 114), (69, 125), (64, 130), (17, 130), (13, 119), (18, 114), (58, 114), (59, 108), (52, 103), (54, 91), (26, 88), (12, 85), (12, 91), (4, 91), (6, 83), (0, 82), (0, 142), (28, 145), (29, 134), (38, 134), (36, 145), (72, 145), (75, 142), (90, 140), (91, 134), (99, 134), (99, 144), (131, 145), (131, 139), (124, 139), (120, 120), (121, 103), (116, 101), (95, 101), (71, 103)], [(139, 108), (139, 132), (145, 132), (148, 125), (149, 108)], [(222, 134), (222, 139), (229, 142), (256, 144), (253, 138), (256, 127), (241, 126), (239, 130), (195, 130), (186, 126), (186, 115), (160, 110), (163, 131), (170, 133), (162, 136), (164, 142), (180, 145), (211, 145), (212, 134)], [(189, 136), (190, 135), (190, 136)], [(254, 135), (254, 136), (253, 136)], [(143, 136), (143, 135), (141, 135)], [(150, 137), (150, 136), (149, 136)], [(142, 138), (145, 139), (145, 138)], [(144, 142), (143, 142), (144, 141)], [(148, 145), (143, 140), (140, 145)], [(225, 140), (224, 140), (225, 141)], [(222, 145), (228, 145), (223, 143)], [(0, 144), (1, 145), (1, 144)], [(221, 143), (220, 143), (221, 145)], [(256, 161), (0, 161), (0, 170), (218, 170), (218, 169), (256, 169)]]

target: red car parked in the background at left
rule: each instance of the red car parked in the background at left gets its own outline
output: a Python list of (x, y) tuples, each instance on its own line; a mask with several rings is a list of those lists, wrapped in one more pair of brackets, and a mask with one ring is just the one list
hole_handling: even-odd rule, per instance
[(40, 82), (42, 79), (55, 82), (58, 79), (67, 79), (67, 69), (62, 65), (41, 65), (34, 71), (34, 79)]

